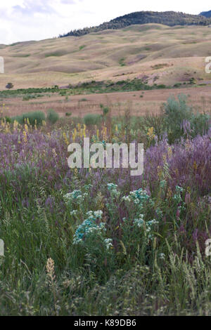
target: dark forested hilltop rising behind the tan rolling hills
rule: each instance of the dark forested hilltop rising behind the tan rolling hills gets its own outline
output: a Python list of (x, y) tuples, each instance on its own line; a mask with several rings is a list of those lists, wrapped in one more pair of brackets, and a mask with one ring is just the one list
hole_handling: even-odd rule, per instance
[(105, 29), (122, 29), (129, 25), (158, 23), (168, 26), (174, 25), (209, 25), (211, 18), (206, 18), (203, 15), (189, 15), (185, 13), (177, 13), (174, 11), (155, 12), (155, 11), (139, 11), (128, 15), (120, 16), (110, 22), (105, 22), (97, 27), (85, 27), (70, 31), (60, 37), (83, 36), (91, 32), (100, 32)]

